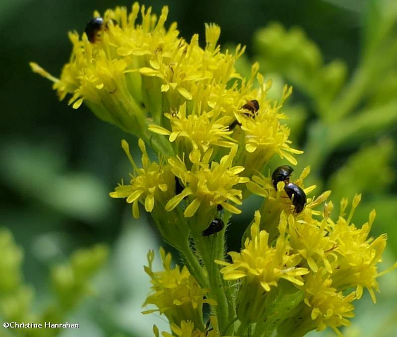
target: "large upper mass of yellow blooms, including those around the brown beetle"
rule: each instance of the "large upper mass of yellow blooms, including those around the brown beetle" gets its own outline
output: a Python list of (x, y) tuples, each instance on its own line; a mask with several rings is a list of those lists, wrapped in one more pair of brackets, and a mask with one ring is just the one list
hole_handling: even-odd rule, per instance
[[(245, 48), (220, 52), (220, 28), (215, 24), (205, 25), (206, 46), (201, 48), (198, 34), (187, 42), (178, 37), (176, 23), (166, 29), (167, 15), (167, 7), (157, 18), (151, 8), (137, 3), (130, 13), (125, 7), (109, 9), (94, 43), (85, 33), (81, 37), (69, 33), (73, 49), (60, 79), (34, 63), (32, 69), (54, 81), (60, 99), (72, 94), (73, 108), (84, 101), (99, 118), (140, 136), (161, 152), (173, 150), (157, 134), (177, 140), (174, 152), (181, 156), (198, 150), (203, 154), (210, 146), (231, 147), (235, 140), (229, 126), (237, 118), (247, 151), (258, 148), (258, 156), (265, 155), (265, 160), (278, 153), (296, 162), (288, 152), (300, 151), (289, 147), (289, 130), (278, 122), (285, 117), (278, 113), (281, 104), (265, 99), (269, 83), (264, 84), (259, 75), (260, 88), (253, 87), (259, 65), (254, 65), (249, 81), (235, 71), (234, 63)], [(283, 100), (290, 92), (286, 89)], [(241, 120), (240, 112), (254, 98), (263, 107), (250, 125)]]

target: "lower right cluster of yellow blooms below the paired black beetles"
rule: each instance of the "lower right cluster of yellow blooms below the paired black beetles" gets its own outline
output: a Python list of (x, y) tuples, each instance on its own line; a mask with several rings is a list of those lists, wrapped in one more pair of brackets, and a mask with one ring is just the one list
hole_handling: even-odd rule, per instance
[[(303, 186), (303, 178), (308, 171), (304, 170), (295, 182)], [(377, 264), (382, 261), (386, 247), (386, 235), (376, 239), (368, 237), (375, 211), (370, 213), (369, 221), (361, 228), (351, 223), (354, 210), (361, 200), (361, 195), (356, 195), (347, 218), (344, 217), (347, 200), (341, 201), (340, 214), (335, 222), (330, 217), (332, 202), (325, 204), (323, 212), (313, 210), (327, 200), (330, 195), (327, 192), (317, 199), (309, 199), (303, 212), (296, 214), (291, 210), (288, 198), (287, 202), (281, 201), (286, 198), (283, 196), (284, 183), (278, 183), (276, 191), (268, 179), (257, 176), (248, 187), (265, 196), (265, 204), (269, 202), (274, 207), (278, 202), (279, 207), (275, 207), (277, 215), (272, 215), (274, 219), (279, 219), (275, 246), (268, 244), (268, 232), (260, 230), (261, 224), (265, 228), (269, 224), (262, 223), (257, 211), (245, 248), (240, 253), (228, 253), (232, 263), (217, 261), (225, 266), (221, 270), (224, 279), (241, 279), (237, 316), (248, 324), (263, 321), (268, 303), (266, 296), (275, 292), (272, 287), (283, 278), (304, 293), (304, 302), (298, 314), (280, 325), (285, 336), (303, 336), (310, 330), (321, 331), (327, 326), (340, 335), (337, 327), (349, 325), (348, 318), (354, 316), (351, 302), (361, 298), (363, 288), (368, 289), (375, 302), (374, 290), (379, 291), (376, 278), (397, 267), (395, 264), (383, 272), (377, 271)], [(303, 190), (309, 193), (314, 188)], [(273, 227), (270, 229), (274, 230)], [(351, 288), (355, 291), (344, 295), (344, 291)], [(299, 328), (295, 331), (297, 325)]]

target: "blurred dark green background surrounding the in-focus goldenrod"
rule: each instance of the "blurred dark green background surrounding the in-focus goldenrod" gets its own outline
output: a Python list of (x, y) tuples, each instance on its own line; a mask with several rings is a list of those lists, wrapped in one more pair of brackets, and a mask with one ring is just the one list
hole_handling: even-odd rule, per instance
[[(238, 69), (245, 73), (249, 63), (259, 60), (261, 71), (273, 78), (270, 95), (279, 97), (283, 83), (294, 85), (285, 108), (287, 123), (295, 148), (306, 151), (298, 157), (296, 174), (310, 163), (311, 182), (319, 185), (319, 191), (334, 190), (331, 199), (336, 208), (342, 196), (351, 200), (355, 192), (362, 192), (354, 220), (361, 225), (369, 211), (377, 209), (373, 234), (388, 233), (385, 266), (390, 266), (397, 257), (396, 1), (141, 3), (152, 5), (157, 13), (167, 4), (168, 22), (177, 21), (187, 39), (199, 32), (202, 41), (204, 22), (218, 23), (222, 45), (247, 45)], [(64, 337), (146, 337), (154, 323), (167, 329), (162, 318), (140, 315), (149, 288), (142, 265), (147, 251), (157, 252), (163, 244), (159, 233), (145, 213), (133, 220), (131, 206), (108, 197), (130, 171), (120, 140), (136, 139), (97, 120), (84, 106), (73, 110), (60, 103), (51, 83), (28, 66), (34, 61), (58, 76), (70, 53), (68, 30), (81, 33), (94, 9), (103, 12), (131, 4), (0, 1), (0, 226), (10, 230), (24, 252), (24, 282), (35, 289), (33, 312), (45, 310), (57, 296), (54, 276), (49, 278), (51, 266), (67, 263), (78, 248), (96, 243), (110, 248), (88, 295), (65, 313), (64, 321), (79, 323), (80, 328), (61, 331)], [(268, 26), (271, 22), (284, 28)], [(230, 250), (239, 248), (239, 237), (259, 206), (259, 199), (252, 201), (229, 227)], [(0, 259), (5, 257), (3, 248)], [(0, 268), (0, 278), (5, 273)], [(379, 281), (379, 303), (373, 305), (367, 294), (355, 302), (357, 318), (345, 330), (346, 336), (397, 336), (397, 274)], [(5, 317), (1, 299), (0, 294), (0, 318)], [(0, 329), (0, 336), (12, 336)]]

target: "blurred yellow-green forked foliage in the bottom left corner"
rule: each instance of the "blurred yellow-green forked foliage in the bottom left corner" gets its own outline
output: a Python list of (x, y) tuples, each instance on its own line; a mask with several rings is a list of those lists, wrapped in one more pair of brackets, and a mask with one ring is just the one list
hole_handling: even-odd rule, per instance
[[(68, 313), (90, 291), (91, 278), (104, 265), (108, 255), (105, 245), (74, 252), (69, 261), (55, 265), (51, 273), (53, 298), (40, 311), (33, 307), (34, 290), (22, 275), (23, 251), (9, 230), (0, 228), (0, 318), (3, 322), (64, 323)], [(56, 336), (58, 329), (15, 329), (22, 336)], [(10, 336), (13, 336), (12, 334)]]

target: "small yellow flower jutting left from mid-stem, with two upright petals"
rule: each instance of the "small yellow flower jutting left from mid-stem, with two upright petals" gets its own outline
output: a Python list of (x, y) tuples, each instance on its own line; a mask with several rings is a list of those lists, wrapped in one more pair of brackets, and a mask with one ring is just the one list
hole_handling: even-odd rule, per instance
[(139, 139), (138, 145), (142, 151), (142, 168), (136, 166), (127, 141), (122, 140), (122, 147), (133, 167), (132, 179), (129, 185), (122, 183), (116, 187), (115, 192), (110, 193), (112, 198), (127, 198), (127, 202), (132, 203), (134, 218), (139, 217), (138, 202), (144, 204), (147, 212), (151, 212), (155, 201), (161, 202), (173, 196), (169, 187), (175, 186), (174, 175), (170, 167), (150, 161), (142, 139)]

